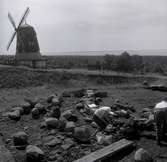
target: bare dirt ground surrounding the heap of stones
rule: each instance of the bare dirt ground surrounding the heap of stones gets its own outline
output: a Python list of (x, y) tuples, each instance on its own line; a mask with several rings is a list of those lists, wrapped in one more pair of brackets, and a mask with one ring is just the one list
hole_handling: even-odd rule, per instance
[[(83, 88), (82, 86), (75, 87), (76, 89)], [(143, 108), (153, 108), (155, 103), (161, 101), (166, 97), (167, 92), (152, 91), (148, 89), (143, 89), (140, 84), (134, 85), (103, 85), (103, 86), (93, 86), (86, 85), (84, 88), (96, 88), (99, 91), (107, 91), (108, 97), (104, 98), (101, 105), (110, 106), (114, 100), (118, 99), (123, 102), (127, 102), (130, 105), (133, 105), (137, 112), (140, 112)], [(39, 86), (39, 87), (27, 87), (21, 89), (0, 89), (0, 132), (4, 135), (4, 141), (11, 139), (11, 135), (20, 130), (26, 130), (29, 135), (29, 143), (40, 146), (45, 150), (46, 154), (48, 152), (54, 151), (47, 150), (42, 144), (41, 139), (45, 139), (46, 136), (50, 133), (45, 132), (43, 129), (40, 129), (40, 123), (43, 121), (41, 117), (38, 120), (34, 120), (30, 115), (24, 115), (20, 121), (15, 122), (8, 118), (3, 117), (3, 113), (14, 105), (17, 105), (24, 98), (46, 98), (53, 93), (61, 93), (64, 90), (71, 90), (72, 87), (60, 87), (60, 86)], [(66, 99), (63, 104), (62, 111), (67, 109), (74, 108), (75, 99)], [(137, 148), (147, 149), (158, 162), (167, 161), (167, 146), (157, 146), (155, 139), (141, 138), (140, 140), (135, 141), (137, 143)], [(12, 143), (6, 143), (6, 146), (13, 153), (17, 162), (21, 162), (24, 159), (24, 151), (18, 151), (12, 147)], [(122, 159), (117, 159), (114, 161), (120, 162), (132, 162), (133, 161), (134, 151), (126, 155)], [(113, 161), (112, 161), (113, 162)]]

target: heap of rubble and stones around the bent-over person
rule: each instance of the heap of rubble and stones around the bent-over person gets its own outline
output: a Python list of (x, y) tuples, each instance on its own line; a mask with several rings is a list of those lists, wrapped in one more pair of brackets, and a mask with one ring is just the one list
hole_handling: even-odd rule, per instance
[[(70, 92), (68, 96), (72, 97), (71, 105), (66, 104), (66, 100), (64, 100), (65, 104), (61, 104), (62, 95), (60, 97), (53, 94), (47, 99), (26, 100), (21, 104), (22, 107), (21, 105), (13, 107), (8, 113), (11, 114), (9, 118), (16, 121), (20, 120), (21, 115), (30, 112), (31, 120), (38, 118), (41, 120), (42, 134), (39, 135), (38, 141), (33, 143), (34, 145), (27, 146), (28, 135), (25, 132), (31, 131), (31, 126), (25, 129), (25, 132), (18, 132), (13, 136), (15, 146), (27, 146), (27, 162), (42, 161), (45, 157), (41, 150), (43, 148), (44, 151), (48, 151), (47, 160), (61, 161), (64, 156), (73, 156), (72, 153), (70, 154), (71, 149), (80, 149), (77, 156), (80, 158), (119, 139), (136, 140), (145, 135), (143, 131), (154, 131), (154, 115), (150, 108), (143, 108), (136, 117), (134, 107), (128, 103), (117, 100), (111, 106), (103, 106), (105, 105), (103, 98), (108, 96), (107, 92), (91, 89), (79, 90)], [(73, 97), (76, 97), (75, 101)], [(65, 108), (64, 112), (62, 107)], [(103, 132), (100, 132), (98, 125), (93, 120), (94, 111), (100, 107), (109, 107), (114, 114)]]

